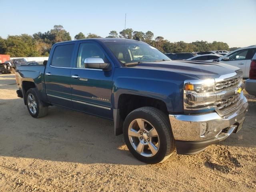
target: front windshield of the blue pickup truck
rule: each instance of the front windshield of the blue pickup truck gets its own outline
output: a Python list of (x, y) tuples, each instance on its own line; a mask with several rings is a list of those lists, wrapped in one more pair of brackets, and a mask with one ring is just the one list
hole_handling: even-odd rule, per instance
[(156, 62), (170, 60), (165, 54), (151, 45), (140, 41), (108, 41), (104, 42), (119, 62), (134, 64), (140, 62)]

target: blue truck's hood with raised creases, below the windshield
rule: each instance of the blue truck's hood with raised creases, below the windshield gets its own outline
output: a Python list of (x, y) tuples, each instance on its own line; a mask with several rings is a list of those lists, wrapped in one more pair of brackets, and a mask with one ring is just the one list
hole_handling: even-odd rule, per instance
[(240, 70), (224, 63), (191, 60), (145, 62), (129, 66), (129, 68), (170, 71), (198, 79), (218, 78), (221, 75)]

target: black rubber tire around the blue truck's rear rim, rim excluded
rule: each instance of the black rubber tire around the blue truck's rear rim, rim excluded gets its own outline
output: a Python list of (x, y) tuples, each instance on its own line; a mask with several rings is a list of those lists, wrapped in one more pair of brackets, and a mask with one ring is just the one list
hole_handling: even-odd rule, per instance
[[(36, 113), (33, 114), (31, 111), (30, 111), (30, 108), (28, 106), (28, 95), (29, 94), (32, 94), (35, 98), (35, 102), (36, 102)], [(29, 114), (34, 117), (34, 118), (40, 118), (40, 117), (44, 117), (47, 115), (48, 113), (48, 106), (46, 106), (38, 97), (38, 94), (37, 94), (37, 90), (36, 88), (31, 88), (27, 91), (26, 93), (26, 104), (27, 104), (27, 108), (28, 108), (28, 112)]]

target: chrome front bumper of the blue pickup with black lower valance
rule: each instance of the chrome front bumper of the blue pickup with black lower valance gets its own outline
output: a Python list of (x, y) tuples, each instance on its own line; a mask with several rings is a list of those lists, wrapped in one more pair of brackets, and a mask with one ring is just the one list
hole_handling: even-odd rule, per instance
[[(219, 116), (216, 112), (202, 115), (169, 115), (177, 153), (196, 154), (210, 144), (226, 139), (232, 132), (241, 128), (247, 110), (248, 102), (244, 97), (240, 108), (230, 116)], [(206, 129), (203, 135), (202, 127)]]

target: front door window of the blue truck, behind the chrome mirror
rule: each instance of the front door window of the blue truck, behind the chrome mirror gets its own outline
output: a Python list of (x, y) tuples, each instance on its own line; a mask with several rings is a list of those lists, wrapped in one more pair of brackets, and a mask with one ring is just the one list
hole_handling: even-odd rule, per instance
[(92, 43), (81, 43), (78, 50), (78, 56), (76, 60), (77, 68), (85, 68), (84, 60), (86, 58), (102, 58), (105, 62), (105, 55), (99, 46)]

